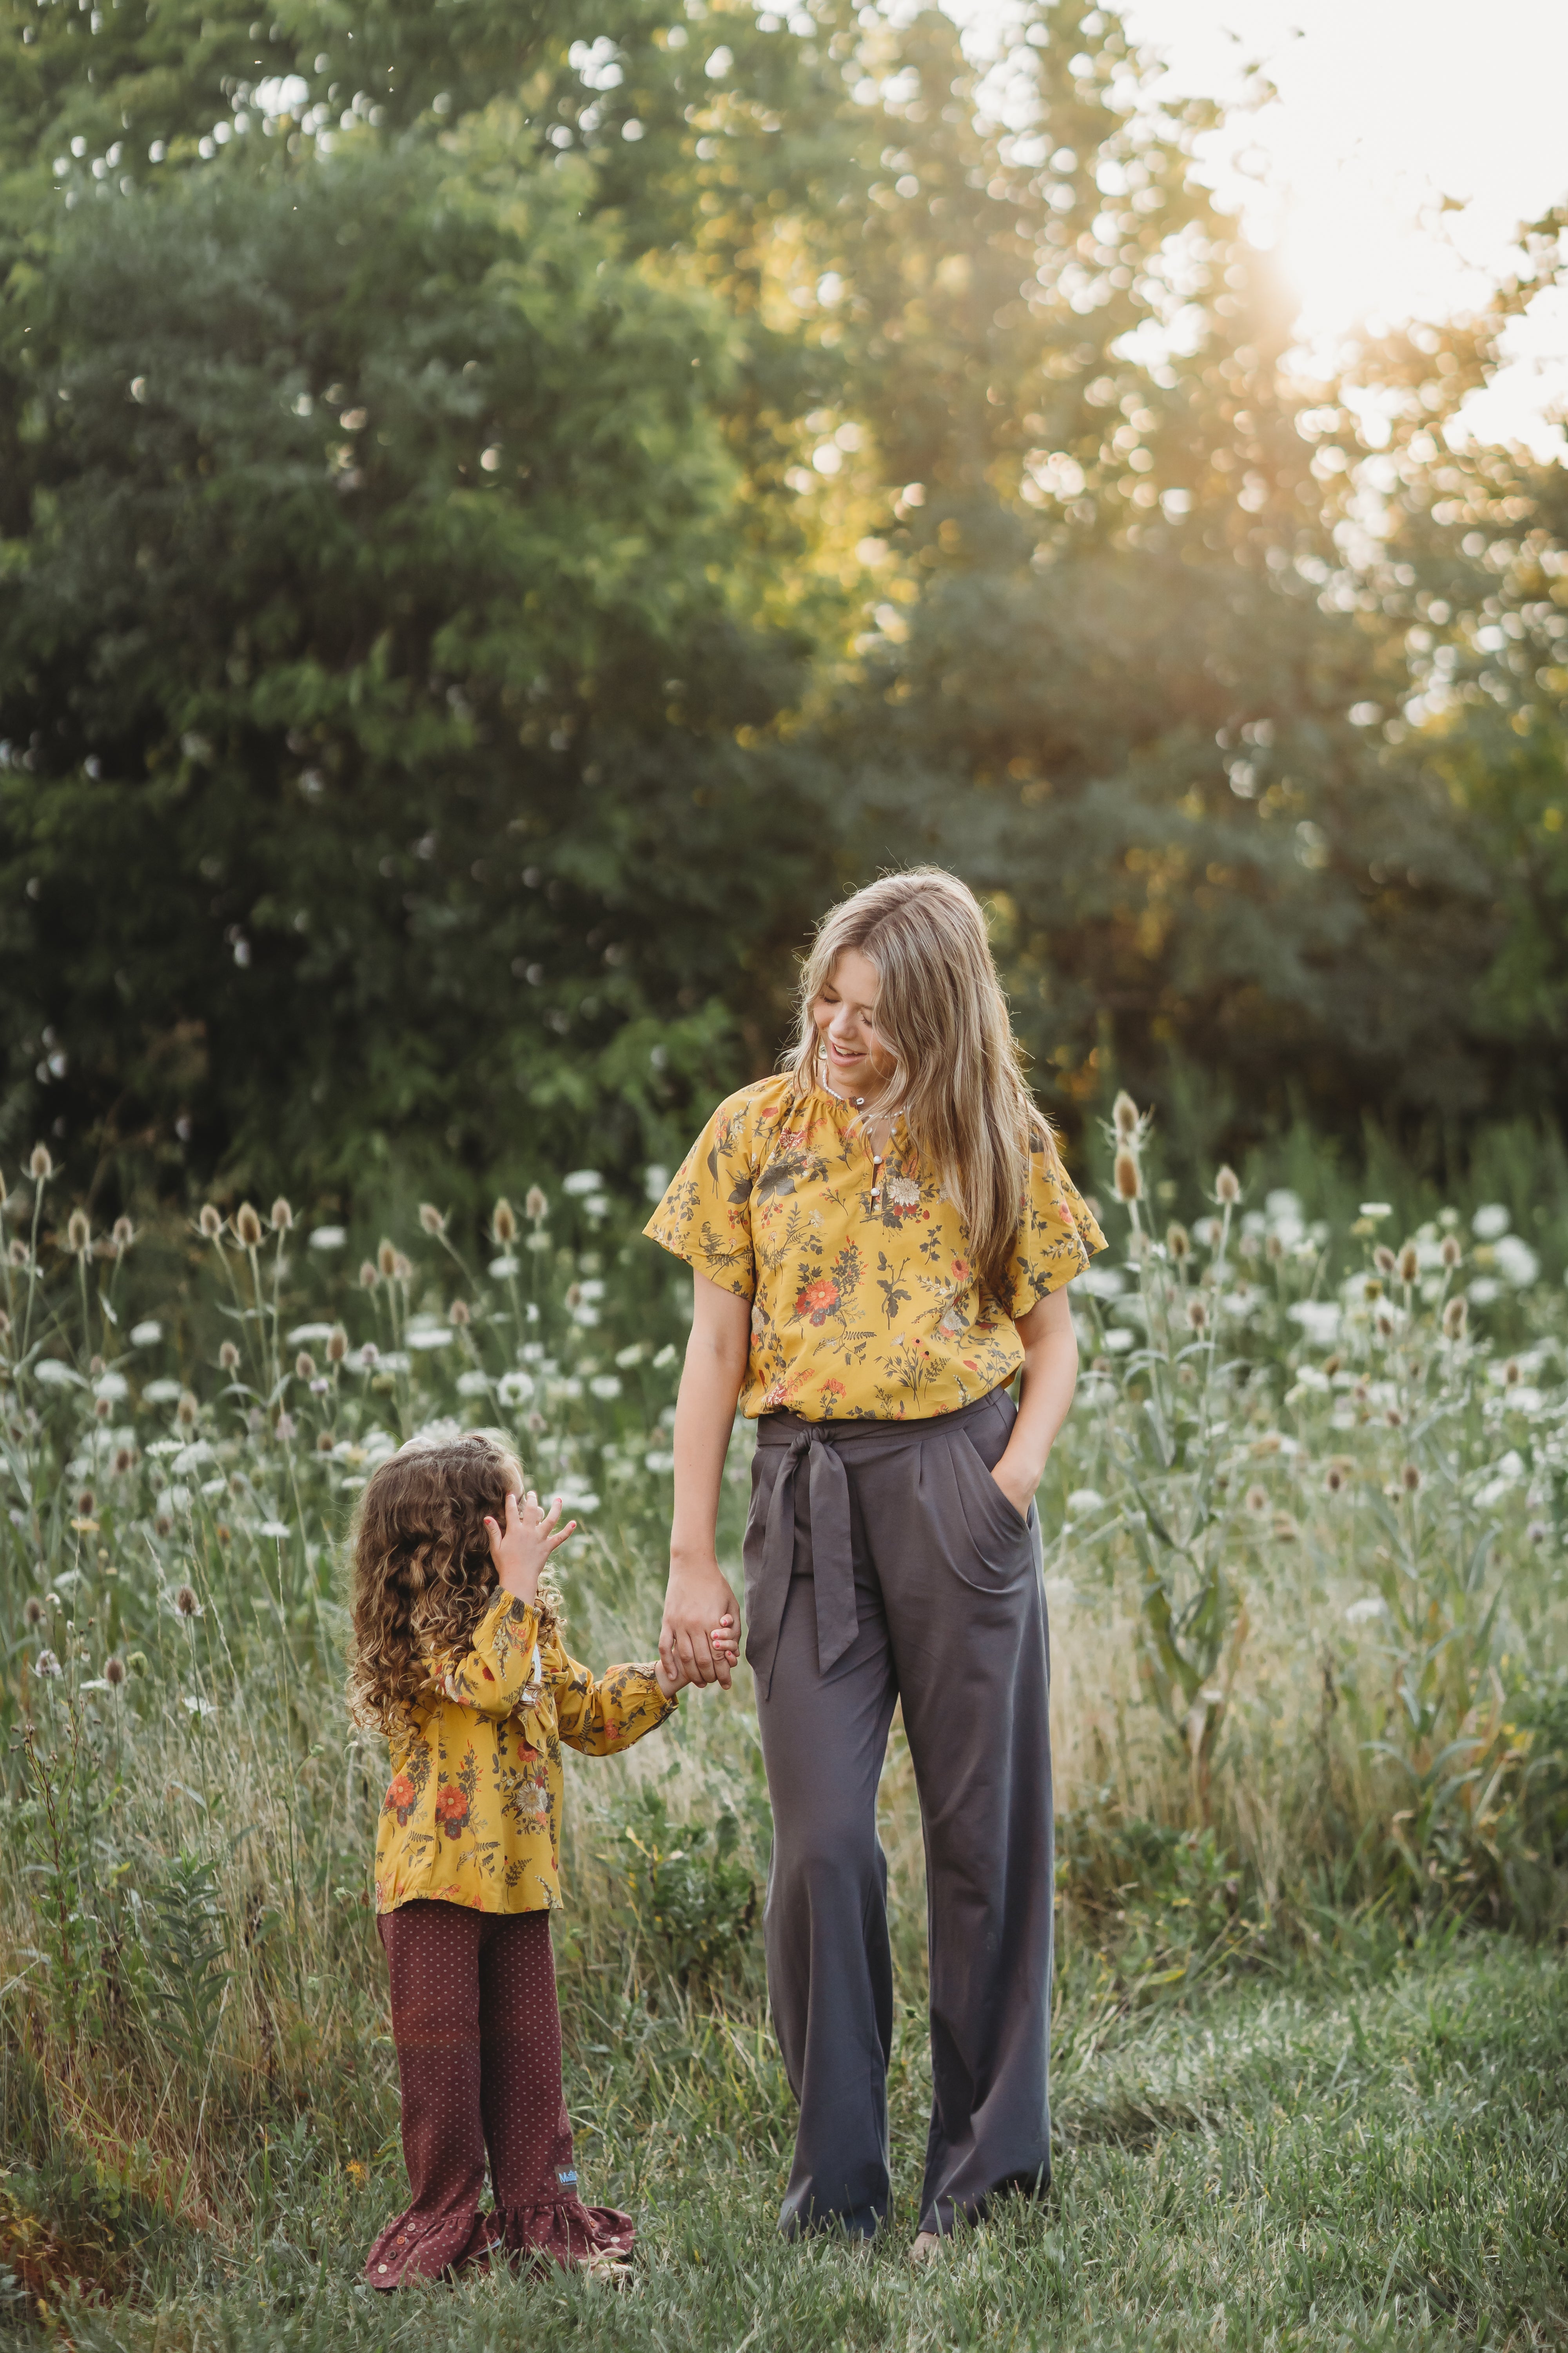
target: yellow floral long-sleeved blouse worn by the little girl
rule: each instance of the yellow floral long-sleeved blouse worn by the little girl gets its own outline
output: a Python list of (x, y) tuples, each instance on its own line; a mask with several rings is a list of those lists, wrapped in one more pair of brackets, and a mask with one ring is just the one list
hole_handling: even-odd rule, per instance
[(651, 1666), (595, 1682), (555, 1621), (498, 1593), (473, 1649), (433, 1664), (430, 1699), (393, 1744), (376, 1833), (376, 1911), (416, 1897), (470, 1911), (555, 1911), (562, 1901), (562, 1741), (614, 1755), (663, 1725)]

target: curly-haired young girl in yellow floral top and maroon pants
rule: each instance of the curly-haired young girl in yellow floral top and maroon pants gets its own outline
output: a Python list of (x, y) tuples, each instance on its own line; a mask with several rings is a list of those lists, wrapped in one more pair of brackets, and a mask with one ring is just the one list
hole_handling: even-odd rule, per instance
[[(489, 2249), (625, 2264), (632, 2224), (585, 2207), (562, 2099), (550, 1913), (562, 1741), (628, 1748), (689, 1678), (569, 1659), (538, 1579), (576, 1520), (541, 1511), (484, 1435), (409, 1445), (364, 1489), (353, 1555), (350, 1711), (393, 1748), (376, 1913), (393, 1981), (411, 2202), (369, 2252), (371, 2287)], [(733, 1654), (733, 1619), (715, 1628)], [(494, 2212), (480, 2214), (484, 2155)]]

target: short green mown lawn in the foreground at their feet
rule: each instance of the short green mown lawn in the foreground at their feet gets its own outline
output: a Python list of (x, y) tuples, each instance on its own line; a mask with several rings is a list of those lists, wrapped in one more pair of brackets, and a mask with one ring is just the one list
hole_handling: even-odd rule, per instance
[(383, 2153), (360, 2186), (301, 2127), (252, 2174), (249, 2245), (183, 2240), (122, 2306), (56, 2327), (82, 2353), (1563, 2344), (1566, 1993), (1559, 1955), (1469, 1939), (1140, 2019), (1067, 2002), (1051, 2195), (922, 2275), (917, 2021), (893, 2078), (896, 2228), (851, 2252), (773, 2235), (790, 2106), (764, 2028), (578, 2009), (569, 2097), (578, 2127), (597, 2118), (578, 2158), (590, 2195), (637, 2212), (632, 2287), (376, 2299), (357, 2261), (400, 2165)]

